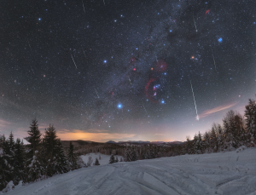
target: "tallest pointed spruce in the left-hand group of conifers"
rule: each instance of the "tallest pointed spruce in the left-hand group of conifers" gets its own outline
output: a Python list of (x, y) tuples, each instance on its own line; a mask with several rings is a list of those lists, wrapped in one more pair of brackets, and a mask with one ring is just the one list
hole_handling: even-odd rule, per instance
[(36, 118), (32, 120), (30, 130), (28, 130), (27, 133), (29, 136), (27, 136), (25, 140), (29, 142), (27, 146), (31, 149), (31, 151), (28, 153), (28, 155), (29, 158), (32, 158), (36, 151), (39, 150), (42, 135), (38, 129), (38, 121)]

